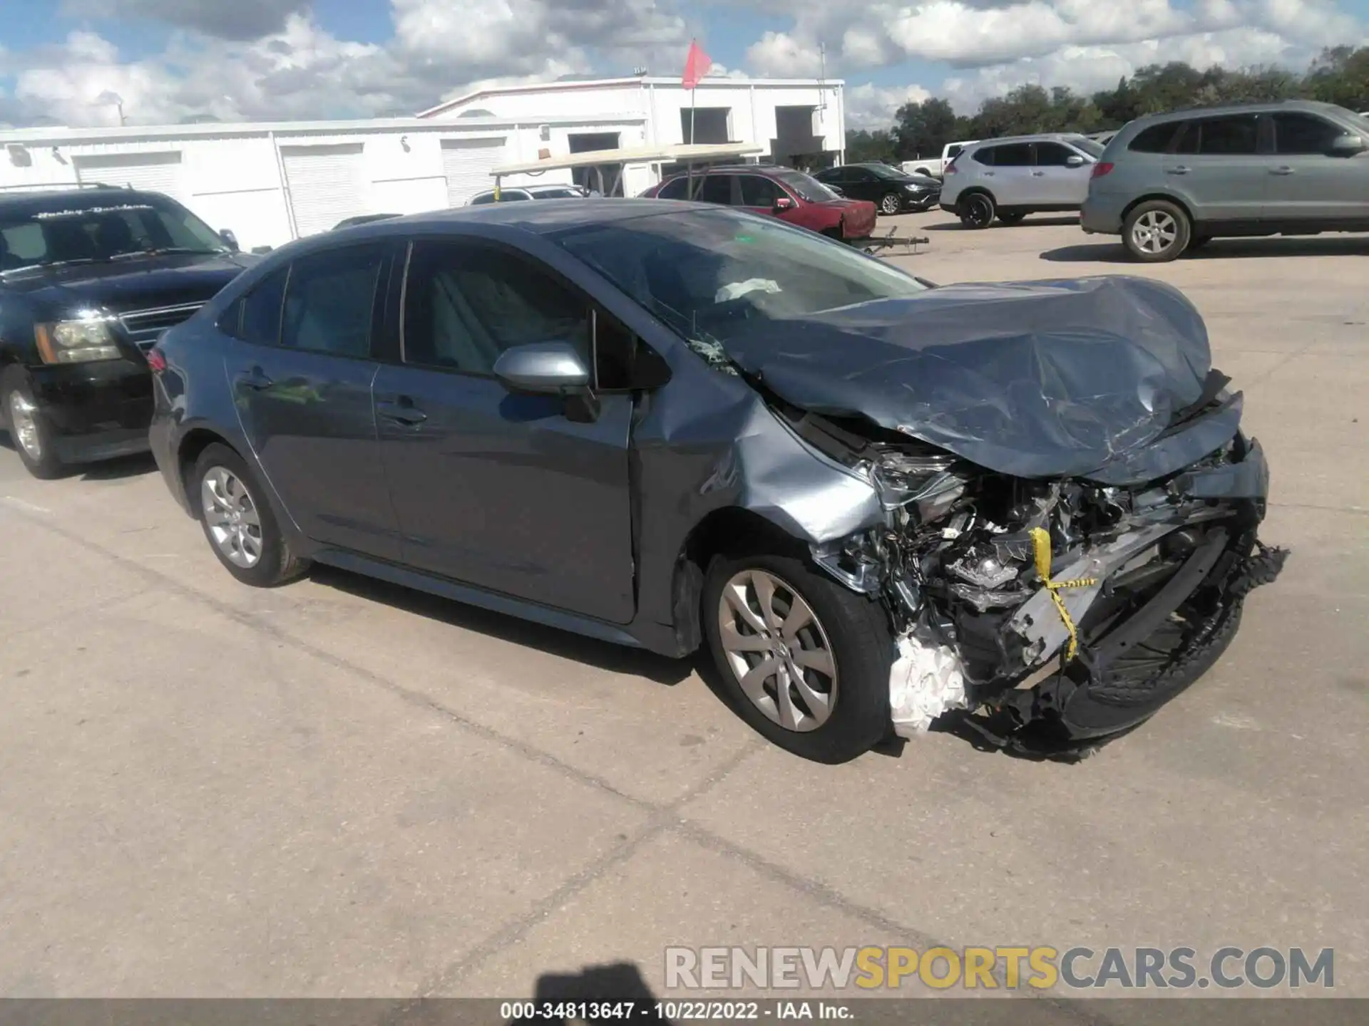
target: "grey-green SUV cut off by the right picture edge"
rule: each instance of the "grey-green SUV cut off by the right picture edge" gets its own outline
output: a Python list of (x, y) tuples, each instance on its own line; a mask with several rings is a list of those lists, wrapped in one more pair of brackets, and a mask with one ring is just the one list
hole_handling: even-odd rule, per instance
[(1146, 263), (1218, 235), (1369, 231), (1369, 119), (1307, 100), (1139, 118), (1094, 166), (1080, 223)]

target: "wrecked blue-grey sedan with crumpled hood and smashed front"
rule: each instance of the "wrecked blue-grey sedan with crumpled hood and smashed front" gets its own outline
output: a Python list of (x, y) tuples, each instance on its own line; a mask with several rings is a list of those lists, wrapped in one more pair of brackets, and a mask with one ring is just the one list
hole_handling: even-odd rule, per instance
[(1283, 560), (1240, 397), (1149, 279), (930, 287), (724, 207), (494, 204), (290, 246), (149, 363), (153, 454), (238, 580), (704, 648), (812, 759), (951, 710), (1127, 731)]

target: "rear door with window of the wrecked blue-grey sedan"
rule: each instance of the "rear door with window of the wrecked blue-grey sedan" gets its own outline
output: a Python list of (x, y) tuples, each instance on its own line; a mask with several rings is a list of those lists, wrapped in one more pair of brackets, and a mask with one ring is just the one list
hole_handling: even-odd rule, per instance
[(371, 405), (389, 269), (381, 245), (296, 260), (248, 295), (225, 369), (244, 432), (300, 529), (393, 560), (398, 532)]

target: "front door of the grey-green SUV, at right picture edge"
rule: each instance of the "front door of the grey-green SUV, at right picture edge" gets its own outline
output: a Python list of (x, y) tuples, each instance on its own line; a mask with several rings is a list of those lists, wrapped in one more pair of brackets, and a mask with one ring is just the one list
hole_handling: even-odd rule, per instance
[(1369, 157), (1332, 156), (1332, 144), (1348, 129), (1305, 111), (1281, 111), (1270, 122), (1272, 218), (1309, 224), (1369, 219)]

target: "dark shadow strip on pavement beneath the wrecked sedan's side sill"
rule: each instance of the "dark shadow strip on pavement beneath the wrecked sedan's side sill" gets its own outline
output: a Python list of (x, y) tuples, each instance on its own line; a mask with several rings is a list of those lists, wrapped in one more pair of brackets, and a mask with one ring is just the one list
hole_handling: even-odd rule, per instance
[(315, 565), (311, 580), (329, 588), (345, 591), (367, 602), (383, 602), (405, 613), (437, 620), (442, 624), (476, 631), (490, 637), (512, 642), (526, 648), (538, 648), (550, 655), (575, 659), (590, 666), (613, 673), (630, 673), (646, 677), (657, 684), (675, 685), (690, 676), (689, 659), (669, 659), (664, 655), (628, 648), (594, 637), (583, 637), (570, 631), (543, 627), (527, 620), (519, 620), (504, 613), (494, 613), (479, 606), (468, 606), (453, 599), (413, 591), (398, 584), (364, 577), (359, 573), (340, 570), (333, 566)]

